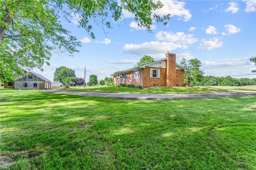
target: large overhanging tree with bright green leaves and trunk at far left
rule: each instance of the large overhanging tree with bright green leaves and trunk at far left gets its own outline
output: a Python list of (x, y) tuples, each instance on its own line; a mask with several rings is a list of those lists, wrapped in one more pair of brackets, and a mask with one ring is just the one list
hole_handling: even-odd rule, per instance
[[(0, 81), (13, 79), (10, 73), (21, 74), (20, 67), (40, 68), (52, 53), (74, 55), (80, 46), (76, 37), (64, 29), (59, 18), (70, 22), (78, 18), (78, 27), (95, 38), (91, 23), (111, 28), (122, 11), (134, 14), (138, 26), (151, 31), (153, 21), (164, 22), (170, 15), (159, 16), (152, 11), (162, 8), (153, 0), (0, 0)], [(166, 25), (166, 22), (164, 22)], [(2, 69), (5, 68), (5, 69)]]

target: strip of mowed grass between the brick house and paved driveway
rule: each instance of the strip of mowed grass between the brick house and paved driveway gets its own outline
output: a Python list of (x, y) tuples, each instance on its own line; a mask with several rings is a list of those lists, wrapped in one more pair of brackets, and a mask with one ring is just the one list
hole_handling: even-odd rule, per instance
[(105, 93), (144, 93), (144, 94), (188, 94), (188, 93), (218, 93), (218, 92), (231, 92), (226, 89), (200, 87), (157, 87), (157, 88), (129, 88), (122, 86), (71, 86), (70, 89), (60, 88), (60, 90), (70, 90), (79, 92), (105, 92)]

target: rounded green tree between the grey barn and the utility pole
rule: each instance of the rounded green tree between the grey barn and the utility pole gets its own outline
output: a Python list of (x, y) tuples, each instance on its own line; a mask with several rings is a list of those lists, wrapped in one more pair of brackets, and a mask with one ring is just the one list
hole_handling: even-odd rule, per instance
[(53, 80), (57, 82), (61, 82), (63, 84), (74, 84), (76, 78), (75, 71), (71, 68), (67, 68), (65, 66), (61, 66), (56, 68), (54, 72)]

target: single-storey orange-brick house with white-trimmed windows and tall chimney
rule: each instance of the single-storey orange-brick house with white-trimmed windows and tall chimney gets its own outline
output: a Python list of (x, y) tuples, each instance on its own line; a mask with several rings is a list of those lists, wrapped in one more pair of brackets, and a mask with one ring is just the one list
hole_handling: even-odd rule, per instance
[(111, 74), (111, 76), (114, 76), (115, 85), (134, 84), (142, 87), (175, 87), (184, 86), (184, 74), (189, 72), (189, 70), (176, 63), (176, 54), (166, 53), (165, 59), (118, 71)]

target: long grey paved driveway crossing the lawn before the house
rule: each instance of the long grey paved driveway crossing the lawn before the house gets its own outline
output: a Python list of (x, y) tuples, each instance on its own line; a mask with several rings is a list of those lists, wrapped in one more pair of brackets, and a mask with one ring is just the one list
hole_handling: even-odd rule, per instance
[(81, 96), (96, 96), (118, 99), (149, 100), (149, 99), (191, 99), (191, 98), (214, 98), (230, 96), (256, 95), (256, 92), (222, 92), (222, 93), (200, 93), (200, 94), (137, 94), (137, 93), (99, 93), (99, 92), (75, 92), (64, 90), (42, 90), (42, 92), (74, 94)]

